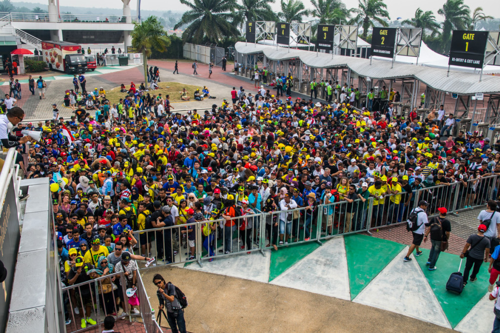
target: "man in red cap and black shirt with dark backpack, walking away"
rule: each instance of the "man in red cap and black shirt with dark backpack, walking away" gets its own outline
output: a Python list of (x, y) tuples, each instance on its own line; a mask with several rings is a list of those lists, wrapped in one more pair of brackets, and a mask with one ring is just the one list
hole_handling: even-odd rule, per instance
[[(436, 270), (436, 261), (439, 258), (439, 253), (446, 250), (447, 242), (449, 239), (449, 233), (451, 231), (451, 224), (446, 219), (446, 213), (448, 210), (445, 207), (439, 207), (439, 216), (434, 217), (425, 226), (429, 227), (425, 231), (425, 236), (423, 236), (423, 242), (427, 242), (427, 237), (430, 234), (430, 253), (429, 259), (427, 259), (426, 265), (429, 265), (429, 271)], [(444, 245), (444, 246), (441, 246)]]

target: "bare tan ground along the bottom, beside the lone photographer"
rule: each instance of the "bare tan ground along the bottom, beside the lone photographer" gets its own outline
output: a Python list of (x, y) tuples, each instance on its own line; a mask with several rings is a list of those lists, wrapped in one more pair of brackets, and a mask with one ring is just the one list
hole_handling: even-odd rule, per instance
[(345, 300), (176, 267), (142, 271), (155, 310), (158, 302), (152, 277), (156, 273), (186, 295), (186, 329), (193, 333), (453, 332)]

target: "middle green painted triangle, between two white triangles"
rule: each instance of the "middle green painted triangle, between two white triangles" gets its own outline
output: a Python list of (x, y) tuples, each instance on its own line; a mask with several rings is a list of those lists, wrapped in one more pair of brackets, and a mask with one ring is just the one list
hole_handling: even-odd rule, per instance
[(405, 247), (366, 235), (344, 236), (344, 243), (351, 300)]

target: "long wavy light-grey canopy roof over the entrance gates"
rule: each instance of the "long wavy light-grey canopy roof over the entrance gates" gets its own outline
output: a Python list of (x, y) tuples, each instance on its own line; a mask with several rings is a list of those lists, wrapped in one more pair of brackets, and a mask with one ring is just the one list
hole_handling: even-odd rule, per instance
[(271, 60), (300, 58), (310, 67), (348, 67), (359, 76), (374, 79), (413, 77), (433, 89), (460, 95), (473, 95), (476, 92), (500, 93), (500, 77), (493, 75), (483, 75), (482, 81), (479, 82), (478, 74), (457, 70), (450, 70), (448, 75), (446, 69), (404, 63), (394, 63), (393, 68), (390, 68), (390, 61), (373, 59), (370, 65), (370, 60), (364, 58), (245, 42), (237, 42), (235, 48), (243, 54), (264, 53)]

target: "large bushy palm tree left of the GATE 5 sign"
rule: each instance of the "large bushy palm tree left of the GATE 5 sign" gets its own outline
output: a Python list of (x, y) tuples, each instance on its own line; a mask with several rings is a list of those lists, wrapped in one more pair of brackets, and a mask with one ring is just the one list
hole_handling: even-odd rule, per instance
[(206, 38), (217, 43), (224, 37), (238, 35), (232, 24), (234, 10), (239, 8), (235, 0), (180, 0), (180, 3), (190, 8), (173, 27), (178, 29), (187, 24), (182, 33), (183, 40), (199, 43)]

